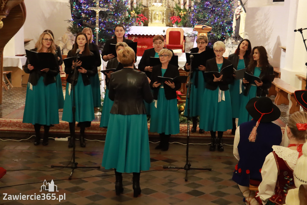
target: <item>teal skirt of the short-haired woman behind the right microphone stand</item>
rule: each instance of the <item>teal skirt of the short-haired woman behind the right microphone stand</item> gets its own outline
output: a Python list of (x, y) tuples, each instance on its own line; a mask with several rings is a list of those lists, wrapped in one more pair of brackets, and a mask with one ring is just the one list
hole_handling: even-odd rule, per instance
[[(190, 117), (196, 117), (200, 115), (201, 107), (203, 106), (202, 104), (202, 98), (204, 95), (204, 90), (206, 83), (204, 81), (204, 76), (202, 71), (197, 71), (198, 72), (198, 86), (197, 88), (194, 85), (195, 82), (195, 72), (192, 77), (192, 86), (191, 86), (191, 93), (190, 93)], [(188, 99), (185, 101), (185, 116), (188, 116)]]

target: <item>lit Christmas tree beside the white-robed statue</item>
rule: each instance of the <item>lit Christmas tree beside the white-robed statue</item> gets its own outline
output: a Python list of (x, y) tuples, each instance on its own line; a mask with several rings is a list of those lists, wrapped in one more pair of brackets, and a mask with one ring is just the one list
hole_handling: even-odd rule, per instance
[(194, 0), (191, 8), (191, 24), (212, 27), (208, 33), (209, 43), (213, 46), (216, 41), (224, 41), (232, 34), (234, 0)]

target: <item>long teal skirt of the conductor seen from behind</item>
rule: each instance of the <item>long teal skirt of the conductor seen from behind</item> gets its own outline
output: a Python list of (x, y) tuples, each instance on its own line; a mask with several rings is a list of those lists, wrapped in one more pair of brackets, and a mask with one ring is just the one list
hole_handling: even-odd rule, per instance
[(147, 116), (110, 114), (102, 166), (118, 172), (150, 168)]

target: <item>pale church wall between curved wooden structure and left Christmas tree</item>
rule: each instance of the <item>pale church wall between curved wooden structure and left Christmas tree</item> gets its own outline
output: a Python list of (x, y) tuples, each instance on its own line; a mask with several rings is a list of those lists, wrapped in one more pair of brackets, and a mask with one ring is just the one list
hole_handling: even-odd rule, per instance
[(39, 35), (46, 29), (52, 30), (55, 40), (60, 38), (71, 19), (68, 0), (25, 0), (27, 17), (24, 24), (24, 38), (31, 38), (25, 49), (33, 49)]

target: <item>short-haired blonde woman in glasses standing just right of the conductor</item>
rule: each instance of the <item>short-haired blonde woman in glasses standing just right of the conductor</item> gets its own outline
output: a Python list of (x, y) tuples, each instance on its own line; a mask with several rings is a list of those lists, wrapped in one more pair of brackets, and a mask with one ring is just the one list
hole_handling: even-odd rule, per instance
[(161, 65), (153, 66), (150, 87), (153, 90), (154, 102), (151, 103), (150, 132), (157, 132), (160, 143), (156, 149), (167, 151), (171, 135), (179, 133), (179, 115), (176, 90), (180, 89), (180, 82), (165, 81), (159, 83), (158, 76), (175, 78), (179, 76), (178, 67), (169, 64), (173, 53), (169, 49), (159, 52)]

